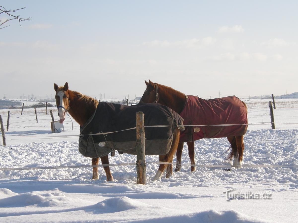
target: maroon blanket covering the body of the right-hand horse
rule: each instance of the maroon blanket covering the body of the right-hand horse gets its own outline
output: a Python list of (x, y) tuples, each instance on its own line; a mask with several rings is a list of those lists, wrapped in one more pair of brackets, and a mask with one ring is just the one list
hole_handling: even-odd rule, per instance
[(180, 113), (185, 131), (180, 132), (180, 142), (202, 138), (243, 136), (247, 130), (247, 109), (237, 97), (229, 96), (205, 100), (188, 95)]

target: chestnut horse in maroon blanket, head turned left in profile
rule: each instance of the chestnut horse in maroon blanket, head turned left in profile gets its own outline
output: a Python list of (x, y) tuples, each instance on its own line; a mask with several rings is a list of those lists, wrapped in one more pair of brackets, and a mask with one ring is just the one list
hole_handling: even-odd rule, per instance
[[(227, 137), (230, 143), (229, 148), (232, 149), (225, 161), (231, 161), (233, 158), (233, 167), (242, 166), (244, 151), (243, 136), (246, 133), (248, 125), (247, 107), (243, 101), (235, 96), (204, 100), (192, 95), (185, 95), (171, 87), (153, 83), (150, 80), (149, 82), (145, 80), (145, 84), (147, 87), (139, 103), (159, 103), (168, 106), (184, 119), (184, 132), (188, 135), (183, 135), (182, 132), (180, 134), (180, 142), (176, 153), (177, 163), (175, 172), (180, 171), (181, 168), (181, 155), (184, 142), (187, 142), (188, 146), (191, 171), (195, 171), (194, 141), (201, 138)], [(195, 109), (190, 111), (193, 105), (195, 105)], [(233, 113), (233, 117), (231, 112)], [(212, 117), (207, 117), (209, 115), (208, 113)], [(219, 120), (219, 117), (222, 117), (222, 120)], [(200, 123), (193, 123), (193, 119), (199, 119), (198, 122)], [(186, 125), (190, 126), (187, 127)]]

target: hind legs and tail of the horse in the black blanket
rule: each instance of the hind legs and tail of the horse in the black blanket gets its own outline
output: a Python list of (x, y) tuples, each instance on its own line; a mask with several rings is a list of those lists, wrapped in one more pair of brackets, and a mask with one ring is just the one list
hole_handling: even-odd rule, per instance
[[(177, 147), (178, 147), (179, 138), (180, 138), (180, 131), (179, 131), (178, 128), (176, 128), (174, 130), (174, 133), (173, 133), (173, 142), (172, 142), (170, 151), (166, 155), (160, 155), (159, 156), (159, 161), (160, 162), (170, 163), (170, 162), (173, 161), (174, 153), (176, 152)], [(159, 168), (158, 168), (158, 170), (156, 172), (156, 175), (154, 176), (153, 180), (159, 180), (162, 177), (162, 173), (164, 172), (164, 169), (165, 169), (166, 165), (168, 165), (168, 164), (159, 164)], [(167, 178), (170, 177), (170, 175), (173, 174), (172, 167), (173, 167), (172, 165), (168, 165), (168, 167), (167, 167), (167, 175), (166, 175)]]

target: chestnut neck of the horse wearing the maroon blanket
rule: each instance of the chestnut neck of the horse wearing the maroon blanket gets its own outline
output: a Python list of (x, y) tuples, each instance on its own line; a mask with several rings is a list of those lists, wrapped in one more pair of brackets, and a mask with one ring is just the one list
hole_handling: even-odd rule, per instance
[(173, 109), (180, 114), (185, 105), (186, 96), (167, 86), (158, 84), (158, 103)]

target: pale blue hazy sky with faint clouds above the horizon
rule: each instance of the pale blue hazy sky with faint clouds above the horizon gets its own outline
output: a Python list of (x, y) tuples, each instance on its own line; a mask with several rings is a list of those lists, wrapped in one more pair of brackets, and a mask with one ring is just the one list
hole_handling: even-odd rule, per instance
[(298, 91), (297, 1), (0, 4), (32, 18), (0, 29), (0, 99), (54, 98), (66, 81), (101, 100), (142, 96), (148, 79), (201, 98)]

